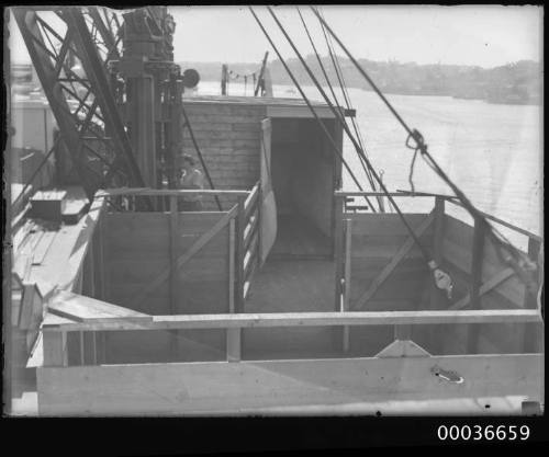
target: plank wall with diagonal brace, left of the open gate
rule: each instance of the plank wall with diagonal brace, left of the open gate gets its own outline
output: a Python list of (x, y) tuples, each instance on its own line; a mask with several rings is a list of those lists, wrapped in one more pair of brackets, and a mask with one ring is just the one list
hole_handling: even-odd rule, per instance
[[(108, 301), (149, 315), (228, 312), (228, 224), (175, 275), (145, 296), (141, 290), (184, 254), (225, 213), (179, 213), (171, 244), (168, 213), (111, 213), (105, 219)], [(171, 295), (176, 304), (172, 307)], [(225, 332), (112, 332), (108, 362), (222, 359)]]

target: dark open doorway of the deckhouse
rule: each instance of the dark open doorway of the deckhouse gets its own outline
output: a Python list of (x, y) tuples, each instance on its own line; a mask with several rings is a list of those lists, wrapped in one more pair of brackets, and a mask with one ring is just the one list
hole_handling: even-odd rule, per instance
[(278, 230), (269, 258), (332, 256), (334, 167), (334, 156), (315, 119), (272, 119), (271, 178)]

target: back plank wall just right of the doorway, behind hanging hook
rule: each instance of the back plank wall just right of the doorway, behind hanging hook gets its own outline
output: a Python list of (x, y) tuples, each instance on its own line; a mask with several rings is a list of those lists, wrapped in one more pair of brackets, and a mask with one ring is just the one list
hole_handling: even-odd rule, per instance
[[(405, 215), (415, 231), (423, 230), (422, 243), (433, 245), (434, 225), (427, 214)], [(395, 214), (344, 214), (350, 219), (350, 287), (346, 309), (393, 311), (425, 309), (429, 270), (419, 249)], [(410, 249), (403, 249), (405, 244)], [(345, 248), (344, 248), (345, 250)], [(345, 252), (345, 251), (344, 251)], [(365, 301), (366, 300), (366, 301)], [(392, 325), (374, 329), (350, 328), (349, 351), (374, 355), (395, 339)]]

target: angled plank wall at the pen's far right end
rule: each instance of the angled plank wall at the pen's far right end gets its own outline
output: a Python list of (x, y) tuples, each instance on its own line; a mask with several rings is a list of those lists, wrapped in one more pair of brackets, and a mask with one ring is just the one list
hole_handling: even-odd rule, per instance
[[(536, 260), (540, 243), (534, 238), (528, 243), (528, 254)], [(525, 284), (497, 254), (493, 241), (478, 227), (449, 215), (444, 219), (442, 260), (455, 281), (453, 301), (458, 308), (536, 308), (536, 297), (527, 293)], [(448, 353), (541, 352), (542, 328), (538, 323), (456, 325), (437, 331), (455, 335), (444, 339), (441, 350)]]

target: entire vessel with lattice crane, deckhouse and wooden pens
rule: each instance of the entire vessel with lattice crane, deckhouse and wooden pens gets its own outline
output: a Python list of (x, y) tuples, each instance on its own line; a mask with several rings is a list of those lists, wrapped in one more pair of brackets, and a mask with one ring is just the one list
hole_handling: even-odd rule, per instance
[[(13, 414), (542, 410), (541, 237), (451, 216), (459, 192), (344, 192), (349, 105), (183, 98), (165, 7), (124, 13), (122, 44), (108, 9), (54, 12), (85, 80), (44, 54), (41, 8), (13, 8), (58, 130), (54, 156), (9, 155), (34, 163), (11, 198)], [(25, 103), (10, 110), (31, 138)], [(209, 188), (177, 188), (181, 151)], [(179, 210), (189, 196), (203, 210)]]

